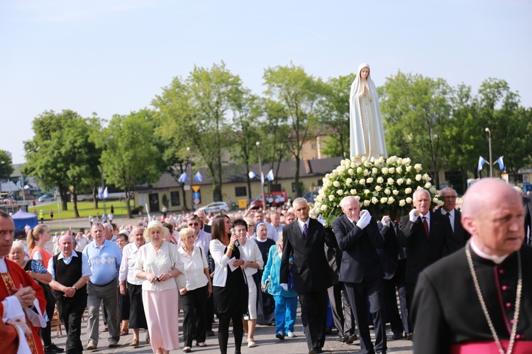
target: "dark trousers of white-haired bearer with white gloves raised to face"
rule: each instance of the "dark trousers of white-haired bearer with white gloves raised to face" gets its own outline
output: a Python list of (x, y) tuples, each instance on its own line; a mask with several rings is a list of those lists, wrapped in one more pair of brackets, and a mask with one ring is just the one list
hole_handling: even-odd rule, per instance
[[(360, 349), (362, 353), (386, 352), (386, 304), (384, 300), (384, 284), (382, 279), (374, 282), (362, 281), (360, 283), (345, 284), (345, 292), (348, 295), (351, 308), (354, 309), (355, 320), (360, 332)], [(367, 323), (367, 304), (370, 304), (370, 314), (375, 326), (375, 350), (371, 342), (370, 326)]]

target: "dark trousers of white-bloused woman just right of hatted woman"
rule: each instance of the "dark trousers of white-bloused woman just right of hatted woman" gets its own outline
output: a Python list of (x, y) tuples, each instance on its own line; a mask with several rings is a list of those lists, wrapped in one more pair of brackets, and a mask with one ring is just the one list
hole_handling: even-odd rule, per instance
[(179, 294), (179, 304), (183, 309), (184, 346), (192, 347), (192, 336), (196, 342), (205, 341), (207, 285), (190, 290), (187, 294)]

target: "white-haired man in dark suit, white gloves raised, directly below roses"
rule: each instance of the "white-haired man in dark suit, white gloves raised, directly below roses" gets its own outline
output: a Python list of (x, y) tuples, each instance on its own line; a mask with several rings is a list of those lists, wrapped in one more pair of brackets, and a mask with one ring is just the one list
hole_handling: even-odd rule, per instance
[[(343, 251), (340, 281), (345, 284), (345, 292), (354, 310), (360, 331), (360, 348), (362, 353), (386, 353), (384, 272), (376, 249), (382, 248), (384, 242), (377, 221), (369, 211), (360, 211), (358, 199), (345, 197), (340, 206), (343, 215), (333, 221), (334, 235)], [(375, 348), (367, 323), (366, 298), (375, 325)]]

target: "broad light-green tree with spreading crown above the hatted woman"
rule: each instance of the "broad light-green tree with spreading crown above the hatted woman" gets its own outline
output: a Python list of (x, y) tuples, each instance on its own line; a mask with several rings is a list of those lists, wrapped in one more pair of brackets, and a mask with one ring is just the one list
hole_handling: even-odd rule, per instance
[(222, 199), (224, 156), (233, 143), (229, 114), (242, 95), (240, 77), (222, 62), (211, 68), (194, 67), (185, 81), (175, 77), (152, 102), (165, 119), (162, 136), (189, 146), (192, 156), (206, 165), (216, 201)]

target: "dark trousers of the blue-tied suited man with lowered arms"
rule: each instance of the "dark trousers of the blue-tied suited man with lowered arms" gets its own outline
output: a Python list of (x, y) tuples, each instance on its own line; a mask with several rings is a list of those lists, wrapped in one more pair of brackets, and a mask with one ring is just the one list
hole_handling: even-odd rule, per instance
[(327, 318), (327, 291), (304, 292), (299, 294), (301, 322), (305, 330), (306, 345), (323, 348)]

